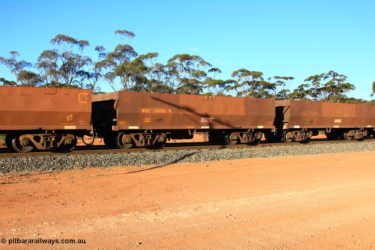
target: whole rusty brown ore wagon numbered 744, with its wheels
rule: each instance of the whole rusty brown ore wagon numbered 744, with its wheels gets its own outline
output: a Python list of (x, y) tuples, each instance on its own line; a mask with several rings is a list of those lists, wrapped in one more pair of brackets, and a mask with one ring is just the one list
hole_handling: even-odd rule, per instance
[(313, 101), (276, 101), (276, 131), (285, 142), (308, 141), (318, 131), (328, 139), (363, 140), (374, 134), (375, 106)]

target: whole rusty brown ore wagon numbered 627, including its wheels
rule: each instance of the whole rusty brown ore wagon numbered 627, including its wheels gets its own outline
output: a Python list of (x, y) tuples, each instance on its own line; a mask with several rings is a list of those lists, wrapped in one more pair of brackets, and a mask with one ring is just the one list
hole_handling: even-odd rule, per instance
[(257, 143), (271, 131), (274, 99), (113, 92), (93, 96), (93, 125), (108, 146), (162, 146), (208, 132), (211, 142)]

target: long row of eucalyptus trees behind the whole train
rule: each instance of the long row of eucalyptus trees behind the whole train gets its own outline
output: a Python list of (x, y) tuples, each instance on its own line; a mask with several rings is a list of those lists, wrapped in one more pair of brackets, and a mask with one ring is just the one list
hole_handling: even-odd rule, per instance
[[(135, 38), (133, 32), (116, 30), (114, 35), (119, 38), (119, 44), (112, 51), (96, 46), (96, 60), (86, 56), (88, 41), (62, 34), (51, 39), (52, 48), (42, 51), (34, 64), (20, 59), (17, 51), (10, 51), (9, 58), (0, 57), (0, 63), (15, 79), (0, 78), (0, 83), (89, 88), (93, 94), (101, 93), (101, 84), (107, 84), (115, 91), (370, 103), (348, 98), (347, 94), (355, 89), (354, 84), (347, 83), (345, 75), (332, 70), (306, 78), (306, 83), (291, 91), (292, 76), (265, 78), (263, 72), (241, 68), (231, 74), (231, 79), (223, 80), (219, 77), (222, 71), (201, 56), (176, 54), (162, 64), (157, 62), (157, 52), (139, 55), (135, 51), (130, 45)], [(371, 96), (374, 94), (375, 81)]]

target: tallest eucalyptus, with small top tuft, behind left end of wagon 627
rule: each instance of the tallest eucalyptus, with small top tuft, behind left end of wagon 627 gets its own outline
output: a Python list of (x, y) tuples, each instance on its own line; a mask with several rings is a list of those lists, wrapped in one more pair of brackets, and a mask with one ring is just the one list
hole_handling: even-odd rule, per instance
[(105, 59), (95, 63), (95, 67), (101, 69), (102, 80), (113, 90), (129, 91), (135, 84), (131, 78), (134, 65), (130, 65), (130, 62), (138, 56), (130, 46), (135, 34), (127, 30), (116, 30), (114, 33), (120, 36), (121, 44), (106, 54)]

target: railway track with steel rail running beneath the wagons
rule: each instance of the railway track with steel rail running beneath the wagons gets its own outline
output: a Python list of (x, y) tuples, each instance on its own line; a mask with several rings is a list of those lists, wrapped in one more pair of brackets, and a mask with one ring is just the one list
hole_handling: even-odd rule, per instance
[[(374, 141), (374, 138), (367, 138), (366, 141)], [(258, 145), (227, 145), (225, 143), (212, 145), (209, 142), (191, 142), (191, 143), (166, 143), (163, 148), (153, 147), (133, 147), (130, 149), (109, 149), (104, 145), (93, 146), (77, 146), (72, 152), (51, 152), (35, 150), (25, 154), (15, 153), (7, 148), (0, 148), (0, 158), (12, 157), (33, 157), (33, 156), (54, 156), (54, 155), (89, 155), (89, 154), (116, 154), (116, 153), (130, 153), (130, 152), (160, 152), (160, 151), (176, 151), (176, 150), (199, 150), (199, 149), (231, 149), (231, 148), (262, 148), (262, 147), (279, 147), (279, 146), (296, 146), (296, 145), (312, 145), (312, 144), (338, 144), (338, 143), (364, 143), (357, 140), (326, 140), (326, 139), (312, 139), (309, 143), (299, 142), (267, 142), (261, 141)]]

